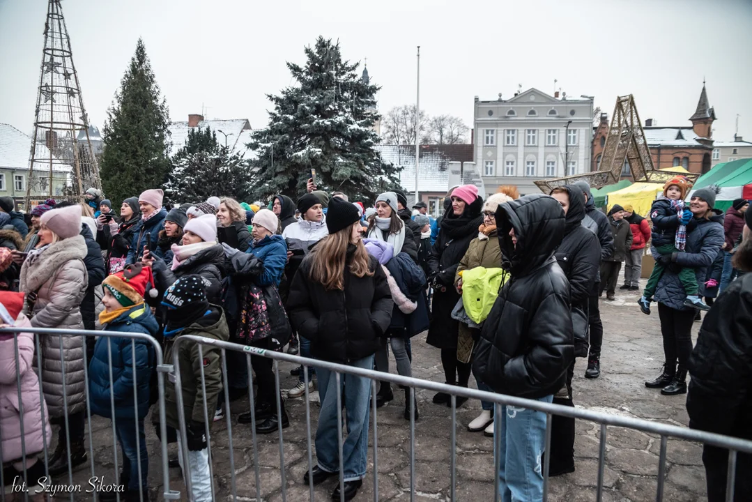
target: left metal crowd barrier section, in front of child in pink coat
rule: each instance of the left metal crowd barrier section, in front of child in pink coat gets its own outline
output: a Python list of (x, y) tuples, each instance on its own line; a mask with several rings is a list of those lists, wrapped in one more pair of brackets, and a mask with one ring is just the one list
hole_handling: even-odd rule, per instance
[[(74, 338), (74, 337), (80, 337), (81, 339), (81, 350), (82, 350), (82, 357), (83, 357), (83, 379), (84, 379), (84, 394), (85, 394), (85, 404), (86, 404), (86, 410), (82, 411), (81, 413), (86, 413), (86, 424), (84, 424), (84, 432), (83, 432), (83, 438), (82, 441), (86, 438), (86, 430), (88, 430), (88, 437), (89, 437), (89, 466), (91, 470), (91, 476), (94, 478), (97, 476), (96, 469), (94, 467), (94, 441), (92, 438), (92, 413), (91, 413), (91, 406), (90, 406), (90, 400), (89, 400), (89, 368), (88, 368), (88, 362), (86, 357), (86, 340), (90, 337), (102, 337), (103, 339), (106, 339), (108, 343), (108, 369), (109, 369), (109, 385), (110, 385), (110, 411), (112, 415), (112, 440), (113, 440), (113, 457), (114, 457), (114, 468), (115, 468), (115, 479), (114, 484), (120, 485), (121, 480), (120, 478), (120, 469), (119, 469), (119, 462), (117, 459), (117, 451), (119, 449), (117, 444), (117, 432), (116, 432), (116, 421), (117, 418), (115, 418), (116, 412), (115, 412), (115, 399), (113, 394), (113, 373), (112, 373), (112, 338), (125, 338), (130, 339), (130, 351), (132, 356), (132, 363), (133, 363), (133, 372), (134, 372), (134, 379), (133, 379), (133, 400), (134, 400), (134, 409), (135, 409), (135, 437), (136, 441), (138, 443), (138, 379), (135, 377), (136, 373), (136, 364), (135, 364), (135, 341), (136, 340), (143, 340), (144, 342), (147, 342), (150, 344), (154, 349), (154, 355), (156, 357), (156, 371), (157, 371), (157, 386), (159, 391), (159, 403), (164, 403), (164, 396), (165, 396), (165, 373), (168, 373), (168, 371), (171, 369), (170, 366), (165, 366), (162, 361), (162, 348), (159, 346), (159, 342), (156, 341), (156, 339), (153, 339), (153, 337), (144, 335), (141, 333), (122, 333), (119, 331), (89, 331), (89, 330), (58, 330), (58, 329), (45, 329), (45, 328), (35, 328), (35, 327), (5, 327), (0, 328), (0, 333), (12, 333), (14, 336), (14, 352), (16, 354), (15, 357), (15, 372), (16, 372), (16, 386), (17, 386), (17, 394), (18, 394), (18, 404), (19, 404), (19, 416), (20, 416), (20, 436), (21, 436), (21, 449), (22, 449), (22, 458), (21, 459), (8, 459), (8, 458), (2, 458), (2, 449), (0, 449), (0, 466), (2, 466), (6, 461), (17, 461), (21, 460), (23, 462), (23, 482), (26, 483), (27, 488), (36, 488), (37, 487), (37, 480), (35, 479), (29, 479), (28, 471), (26, 468), (26, 460), (29, 455), (27, 454), (35, 454), (38, 455), (39, 453), (43, 453), (43, 458), (38, 458), (37, 461), (42, 461), (44, 459), (44, 476), (47, 478), (47, 486), (48, 488), (56, 488), (58, 489), (58, 494), (65, 494), (66, 491), (68, 491), (69, 499), (70, 500), (98, 500), (99, 497), (96, 497), (96, 491), (88, 492), (87, 490), (92, 489), (92, 486), (87, 485), (74, 485), (74, 479), (73, 479), (73, 468), (71, 467), (71, 437), (70, 437), (70, 420), (73, 415), (70, 415), (68, 413), (68, 385), (66, 376), (65, 376), (65, 360), (63, 358), (63, 338)], [(62, 485), (65, 483), (59, 483), (54, 482), (54, 476), (50, 478), (50, 472), (49, 472), (49, 460), (50, 460), (50, 453), (49, 453), (49, 446), (47, 443), (47, 437), (46, 437), (46, 428), (47, 428), (47, 422), (50, 420), (50, 416), (45, 415), (45, 409), (47, 406), (41, 406), (41, 424), (42, 424), (42, 444), (43, 444), (43, 452), (27, 452), (26, 451), (26, 437), (24, 434), (24, 409), (23, 409), (23, 399), (22, 399), (22, 393), (21, 393), (21, 375), (20, 375), (20, 361), (19, 361), (19, 347), (18, 347), (18, 334), (19, 333), (34, 333), (34, 341), (35, 341), (35, 354), (33, 357), (33, 363), (32, 367), (29, 368), (27, 371), (34, 370), (36, 372), (37, 377), (37, 383), (39, 385), (39, 397), (40, 402), (44, 403), (44, 388), (43, 388), (43, 379), (42, 379), (42, 371), (40, 369), (44, 367), (49, 367), (50, 362), (57, 362), (45, 360), (42, 355), (41, 346), (43, 343), (41, 342), (41, 339), (44, 340), (44, 337), (47, 337), (47, 340), (44, 340), (44, 344), (48, 345), (51, 348), (59, 347), (60, 351), (60, 372), (62, 375), (62, 394), (63, 394), (63, 416), (62, 416), (62, 424), (61, 427), (65, 427), (65, 455), (67, 455), (68, 460), (68, 479), (67, 479), (67, 486), (68, 487), (74, 487), (77, 486), (78, 488), (62, 488)], [(56, 345), (50, 345), (55, 344)], [(127, 350), (127, 349), (126, 349)], [(50, 383), (50, 382), (48, 382)], [(77, 415), (75, 413), (74, 415)], [(165, 423), (165, 409), (164, 406), (159, 406), (159, 417), (160, 417), (160, 424), (161, 424), (161, 446), (162, 446), (162, 482), (164, 485), (164, 492), (162, 494), (162, 497), (165, 500), (177, 500), (180, 498), (180, 492), (179, 491), (173, 491), (170, 489), (170, 479), (169, 479), (169, 471), (168, 471), (168, 458), (167, 458), (167, 431), (166, 431), (166, 423)], [(54, 431), (53, 431), (54, 435)], [(2, 441), (2, 437), (0, 437), (0, 441)], [(136, 452), (138, 455), (138, 473), (131, 473), (131, 476), (138, 475), (139, 479), (139, 485), (141, 485), (141, 480), (144, 479), (143, 476), (146, 476), (146, 473), (141, 472), (141, 450), (137, 447)], [(123, 458), (123, 461), (127, 461), (125, 458)], [(4, 469), (0, 469), (0, 486), (2, 486), (2, 491), (0, 491), (0, 501), (5, 502), (5, 483), (7, 480), (3, 479)], [(54, 482), (54, 483), (53, 483)], [(50, 484), (52, 486), (50, 487)], [(112, 483), (104, 482), (105, 485), (112, 485)], [(99, 484), (97, 484), (99, 485)], [(41, 488), (41, 487), (40, 487)], [(23, 491), (19, 490), (19, 494), (23, 493), (23, 500), (29, 500), (29, 491)], [(120, 492), (115, 491), (117, 494), (117, 500), (125, 500), (125, 497), (120, 497)], [(47, 500), (47, 496), (50, 495), (50, 490), (44, 492), (45, 494), (45, 500)], [(33, 495), (33, 494), (32, 494)], [(144, 502), (143, 494), (140, 494), (141, 502)]]

